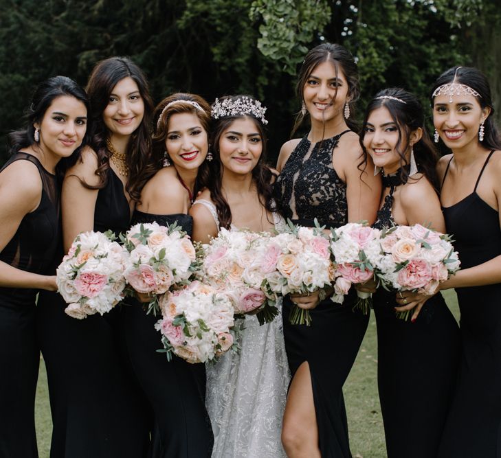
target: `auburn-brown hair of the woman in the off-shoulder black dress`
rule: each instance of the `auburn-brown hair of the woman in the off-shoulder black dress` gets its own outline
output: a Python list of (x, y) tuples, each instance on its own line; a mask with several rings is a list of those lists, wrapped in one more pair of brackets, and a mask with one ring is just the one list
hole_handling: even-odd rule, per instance
[[(172, 102), (176, 102), (170, 106)], [(190, 104), (189, 102), (197, 103), (202, 110), (199, 110), (196, 106)], [(170, 117), (177, 113), (191, 113), (200, 119), (203, 129), (207, 133), (208, 141), (210, 137), (210, 106), (200, 95), (182, 93), (178, 92), (175, 94), (168, 95), (160, 102), (153, 113), (154, 130), (152, 137), (152, 149), (151, 156), (149, 158), (148, 164), (140, 173), (137, 181), (140, 183), (142, 188), (146, 182), (151, 179), (155, 173), (162, 168), (162, 163), (164, 161), (164, 152), (166, 150), (166, 138), (168, 133), (168, 124)], [(205, 187), (206, 183), (209, 181), (209, 165), (207, 161), (203, 161), (200, 165), (197, 182), (195, 183), (195, 194), (197, 191)]]

